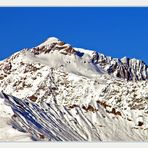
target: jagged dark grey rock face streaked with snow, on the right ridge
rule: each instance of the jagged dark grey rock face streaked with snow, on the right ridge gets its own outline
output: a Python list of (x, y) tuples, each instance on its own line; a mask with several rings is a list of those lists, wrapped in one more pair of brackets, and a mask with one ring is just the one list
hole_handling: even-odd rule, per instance
[(114, 59), (94, 52), (92, 62), (100, 64), (109, 74), (119, 78), (133, 81), (148, 79), (148, 66), (137, 59)]

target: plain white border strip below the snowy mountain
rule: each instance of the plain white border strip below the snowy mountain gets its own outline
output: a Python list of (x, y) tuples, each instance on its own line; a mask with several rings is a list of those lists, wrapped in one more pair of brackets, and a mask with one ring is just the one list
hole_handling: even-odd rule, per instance
[(144, 142), (7, 142), (0, 143), (2, 148), (147, 148)]

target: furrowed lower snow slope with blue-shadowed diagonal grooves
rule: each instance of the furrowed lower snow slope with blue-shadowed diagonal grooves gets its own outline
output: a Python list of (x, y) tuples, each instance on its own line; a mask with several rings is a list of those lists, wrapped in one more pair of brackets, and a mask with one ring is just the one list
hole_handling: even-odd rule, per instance
[[(92, 108), (86, 110), (80, 106), (67, 107), (49, 103), (42, 103), (39, 106), (28, 99), (20, 100), (6, 94), (4, 96), (14, 111), (11, 124), (22, 131), (22, 134), (30, 133), (32, 140), (148, 140), (146, 128), (135, 127), (132, 121), (125, 120), (119, 115), (106, 113), (104, 107), (99, 104), (97, 110), (92, 110)], [(12, 134), (16, 137), (16, 132)], [(21, 140), (24, 141), (24, 139)]]

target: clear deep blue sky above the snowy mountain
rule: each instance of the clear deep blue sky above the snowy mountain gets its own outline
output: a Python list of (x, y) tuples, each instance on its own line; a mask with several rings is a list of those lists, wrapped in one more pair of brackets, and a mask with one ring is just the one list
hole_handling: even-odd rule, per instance
[(48, 37), (148, 64), (148, 8), (0, 8), (0, 60)]

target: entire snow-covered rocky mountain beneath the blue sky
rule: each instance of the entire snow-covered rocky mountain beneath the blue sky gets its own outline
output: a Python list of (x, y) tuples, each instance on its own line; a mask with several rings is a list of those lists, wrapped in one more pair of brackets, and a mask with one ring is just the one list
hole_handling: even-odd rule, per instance
[(0, 141), (148, 141), (148, 66), (49, 38), (0, 62)]

